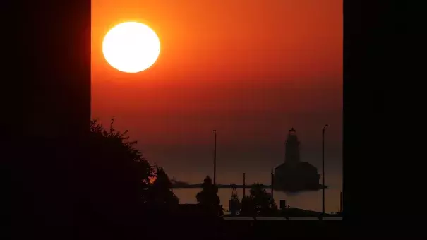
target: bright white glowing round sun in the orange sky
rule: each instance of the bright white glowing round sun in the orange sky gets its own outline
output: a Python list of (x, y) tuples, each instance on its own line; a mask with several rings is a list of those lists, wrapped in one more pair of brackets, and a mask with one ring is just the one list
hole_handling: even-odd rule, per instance
[(138, 73), (150, 68), (160, 54), (157, 34), (143, 23), (126, 22), (107, 32), (102, 42), (105, 60), (125, 73)]

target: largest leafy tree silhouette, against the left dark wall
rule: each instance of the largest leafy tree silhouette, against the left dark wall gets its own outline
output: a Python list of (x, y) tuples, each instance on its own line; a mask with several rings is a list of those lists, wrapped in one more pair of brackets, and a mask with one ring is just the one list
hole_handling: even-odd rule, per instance
[(90, 131), (93, 208), (102, 208), (100, 212), (108, 209), (114, 221), (138, 214), (140, 199), (146, 199), (150, 177), (154, 176), (153, 167), (134, 147), (137, 142), (128, 140), (128, 131), (116, 131), (114, 119), (108, 131), (97, 119), (92, 120)]

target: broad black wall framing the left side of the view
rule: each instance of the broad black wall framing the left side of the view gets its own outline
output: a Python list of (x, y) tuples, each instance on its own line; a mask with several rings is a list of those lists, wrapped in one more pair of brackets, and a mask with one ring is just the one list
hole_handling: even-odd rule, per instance
[(53, 233), (43, 227), (84, 218), (91, 1), (5, 0), (1, 18), (1, 152), (13, 170), (13, 222), (16, 234)]

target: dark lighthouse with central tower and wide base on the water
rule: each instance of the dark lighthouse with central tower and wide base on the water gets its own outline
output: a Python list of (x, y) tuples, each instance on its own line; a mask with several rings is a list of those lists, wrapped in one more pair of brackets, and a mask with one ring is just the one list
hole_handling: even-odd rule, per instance
[(276, 190), (308, 191), (321, 188), (318, 169), (308, 162), (301, 162), (299, 145), (296, 131), (291, 128), (286, 141), (284, 163), (275, 168)]

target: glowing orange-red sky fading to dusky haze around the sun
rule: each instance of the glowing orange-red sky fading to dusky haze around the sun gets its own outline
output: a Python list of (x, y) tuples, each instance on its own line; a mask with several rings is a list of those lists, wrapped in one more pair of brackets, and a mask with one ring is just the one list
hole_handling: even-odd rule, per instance
[[(128, 20), (162, 44), (141, 73), (116, 71), (102, 56), (104, 35)], [(115, 116), (150, 161), (183, 181), (211, 174), (214, 128), (218, 181), (241, 172), (264, 181), (292, 126), (303, 160), (319, 166), (328, 123), (327, 166), (338, 179), (342, 0), (92, 0), (92, 116)]]

